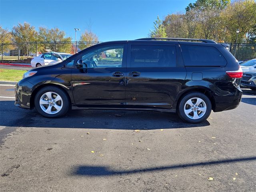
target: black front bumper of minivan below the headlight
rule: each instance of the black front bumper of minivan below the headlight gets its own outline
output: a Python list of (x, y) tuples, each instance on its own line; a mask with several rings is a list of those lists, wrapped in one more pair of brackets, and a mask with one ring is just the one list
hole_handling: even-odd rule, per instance
[(15, 85), (15, 102), (14, 105), (20, 108), (30, 109), (30, 98), (33, 84), (22, 79)]

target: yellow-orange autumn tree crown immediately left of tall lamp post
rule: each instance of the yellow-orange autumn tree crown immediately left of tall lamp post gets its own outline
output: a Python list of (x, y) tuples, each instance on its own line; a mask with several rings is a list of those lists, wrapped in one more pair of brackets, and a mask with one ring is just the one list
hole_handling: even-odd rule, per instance
[(71, 41), (71, 37), (66, 37), (66, 33), (62, 30), (60, 30), (57, 27), (54, 27), (52, 29), (47, 29), (45, 27), (39, 27), (38, 31), (38, 37), (40, 41), (60, 41), (60, 42), (67, 42)]

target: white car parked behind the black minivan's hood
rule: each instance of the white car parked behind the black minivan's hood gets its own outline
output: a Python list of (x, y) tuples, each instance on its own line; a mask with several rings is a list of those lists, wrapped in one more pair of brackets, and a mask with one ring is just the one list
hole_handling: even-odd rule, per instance
[(49, 52), (42, 53), (37, 57), (32, 58), (31, 66), (32, 67), (40, 67), (44, 65), (52, 65), (59, 62), (62, 62), (66, 58), (69, 58), (72, 54), (69, 53), (57, 53), (57, 52)]

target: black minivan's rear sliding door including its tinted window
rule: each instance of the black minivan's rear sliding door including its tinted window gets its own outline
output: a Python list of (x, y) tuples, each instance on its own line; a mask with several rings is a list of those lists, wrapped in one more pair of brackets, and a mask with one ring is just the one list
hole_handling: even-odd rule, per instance
[(134, 43), (128, 45), (128, 50), (127, 107), (172, 108), (186, 78), (186, 69), (177, 57), (178, 43)]

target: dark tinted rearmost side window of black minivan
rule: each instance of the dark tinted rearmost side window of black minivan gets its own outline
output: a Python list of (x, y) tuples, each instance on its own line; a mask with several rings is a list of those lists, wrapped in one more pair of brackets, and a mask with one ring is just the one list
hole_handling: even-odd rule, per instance
[(181, 45), (185, 66), (225, 66), (226, 60), (209, 46)]

